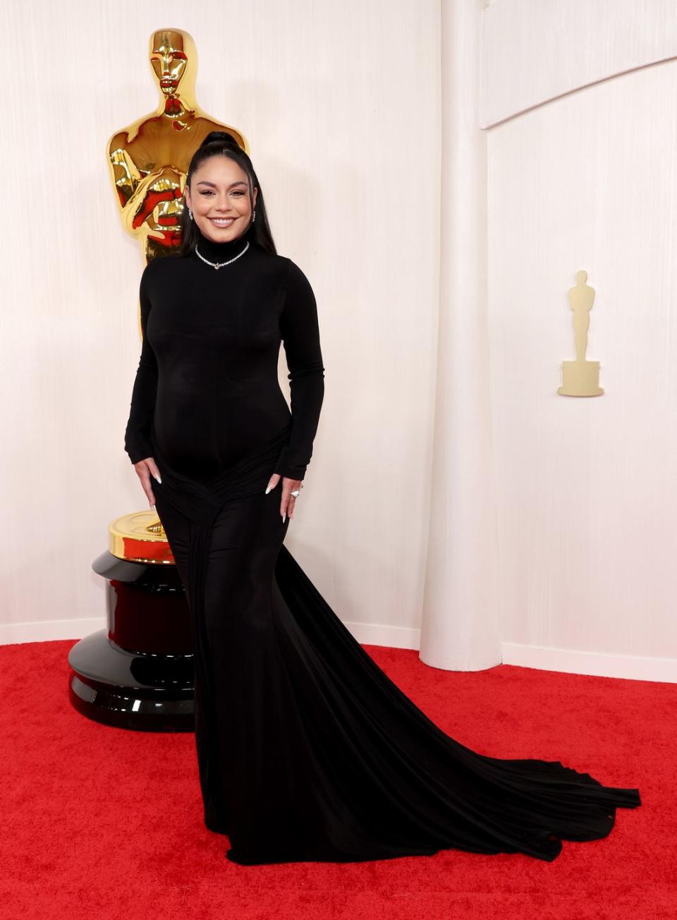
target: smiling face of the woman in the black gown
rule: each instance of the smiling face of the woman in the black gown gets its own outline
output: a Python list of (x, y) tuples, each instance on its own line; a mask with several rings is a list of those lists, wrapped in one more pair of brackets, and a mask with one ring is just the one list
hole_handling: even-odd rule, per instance
[[(254, 190), (256, 206), (258, 189)], [(195, 170), (186, 204), (202, 234), (214, 243), (236, 239), (251, 219), (247, 173), (230, 156), (210, 156)]]

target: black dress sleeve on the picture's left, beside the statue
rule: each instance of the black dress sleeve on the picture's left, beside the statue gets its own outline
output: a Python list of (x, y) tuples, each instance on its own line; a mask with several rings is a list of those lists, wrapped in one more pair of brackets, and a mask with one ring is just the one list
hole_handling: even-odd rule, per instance
[(151, 311), (151, 301), (148, 294), (148, 267), (146, 266), (146, 269), (143, 270), (139, 287), (143, 343), (141, 358), (139, 359), (139, 366), (132, 388), (130, 416), (124, 436), (125, 451), (129, 454), (132, 464), (153, 456), (151, 429), (153, 427), (155, 394), (157, 392), (157, 360), (146, 336), (146, 326)]

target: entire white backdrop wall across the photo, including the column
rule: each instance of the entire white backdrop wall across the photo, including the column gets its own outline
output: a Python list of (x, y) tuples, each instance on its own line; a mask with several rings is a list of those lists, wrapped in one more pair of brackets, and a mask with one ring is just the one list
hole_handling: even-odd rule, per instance
[[(328, 603), (384, 645), (425, 615), (440, 667), (677, 680), (671, 3), (483, 5), (6, 10), (0, 642), (101, 626), (92, 559), (144, 506), (142, 259), (105, 145), (154, 109), (147, 40), (174, 26), (316, 291), (327, 395), (287, 545)], [(556, 392), (580, 268), (593, 399)]]

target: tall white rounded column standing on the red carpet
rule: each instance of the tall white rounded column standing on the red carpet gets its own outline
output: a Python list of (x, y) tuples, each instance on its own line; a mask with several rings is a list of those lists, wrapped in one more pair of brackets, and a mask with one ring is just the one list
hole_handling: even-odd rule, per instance
[(442, 0), (442, 226), (437, 396), (420, 658), (500, 662), (487, 318), (482, 0)]

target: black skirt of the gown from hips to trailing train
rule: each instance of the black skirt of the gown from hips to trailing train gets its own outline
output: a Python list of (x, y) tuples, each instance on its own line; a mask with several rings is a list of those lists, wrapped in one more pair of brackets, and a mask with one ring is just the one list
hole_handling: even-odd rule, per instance
[(476, 753), (353, 638), (283, 546), (283, 441), (207, 483), (156, 448), (156, 508), (186, 587), (204, 821), (235, 863), (476, 853), (557, 857), (606, 836), (637, 788)]

